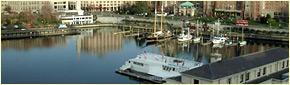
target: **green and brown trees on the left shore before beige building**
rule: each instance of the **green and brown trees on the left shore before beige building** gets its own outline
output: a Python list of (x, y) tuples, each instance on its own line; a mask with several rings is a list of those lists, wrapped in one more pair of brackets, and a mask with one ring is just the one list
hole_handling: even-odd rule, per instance
[(38, 28), (54, 26), (60, 20), (54, 13), (52, 6), (45, 4), (36, 12), (24, 10), (20, 13), (14, 12), (10, 6), (6, 6), (1, 14), (1, 22), (2, 26), (8, 28), (13, 28), (15, 25), (19, 26), (19, 28)]

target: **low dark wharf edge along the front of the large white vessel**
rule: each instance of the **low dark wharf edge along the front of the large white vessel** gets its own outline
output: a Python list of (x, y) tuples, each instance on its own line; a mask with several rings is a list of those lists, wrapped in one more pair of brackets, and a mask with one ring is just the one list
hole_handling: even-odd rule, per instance
[(146, 80), (146, 81), (150, 81), (150, 82), (156, 83), (156, 84), (165, 83), (165, 80), (162, 80), (161, 77), (157, 77), (157, 76), (153, 76), (153, 75), (145, 74), (145, 73), (140, 73), (140, 72), (133, 71), (133, 70), (130, 70), (130, 69), (128, 69), (128, 70), (117, 70), (116, 72), (119, 73), (119, 74), (135, 77), (135, 78), (138, 78), (138, 79), (143, 79), (143, 80)]

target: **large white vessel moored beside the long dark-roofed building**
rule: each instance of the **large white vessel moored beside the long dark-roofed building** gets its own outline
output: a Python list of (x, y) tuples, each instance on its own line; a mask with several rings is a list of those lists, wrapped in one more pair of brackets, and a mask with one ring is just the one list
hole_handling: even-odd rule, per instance
[(129, 59), (120, 70), (134, 70), (150, 74), (162, 79), (180, 76), (180, 72), (200, 67), (200, 62), (178, 59), (154, 53), (143, 53), (136, 58)]

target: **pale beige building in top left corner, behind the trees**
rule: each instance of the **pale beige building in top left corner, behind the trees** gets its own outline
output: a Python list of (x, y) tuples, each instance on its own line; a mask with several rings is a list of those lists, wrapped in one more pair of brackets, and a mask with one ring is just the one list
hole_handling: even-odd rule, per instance
[(49, 1), (10, 1), (3, 0), (1, 1), (1, 11), (4, 12), (4, 9), (7, 6), (11, 7), (11, 11), (13, 12), (23, 12), (23, 11), (32, 11), (39, 12), (45, 4), (50, 4)]

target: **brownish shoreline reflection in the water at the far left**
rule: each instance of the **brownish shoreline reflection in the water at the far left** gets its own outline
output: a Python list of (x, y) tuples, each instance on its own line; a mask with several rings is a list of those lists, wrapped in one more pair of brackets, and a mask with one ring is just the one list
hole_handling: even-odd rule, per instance
[(28, 51), (32, 48), (51, 48), (66, 46), (66, 37), (40, 37), (32, 39), (2, 40), (1, 49), (16, 49)]

